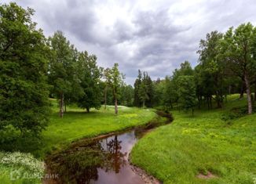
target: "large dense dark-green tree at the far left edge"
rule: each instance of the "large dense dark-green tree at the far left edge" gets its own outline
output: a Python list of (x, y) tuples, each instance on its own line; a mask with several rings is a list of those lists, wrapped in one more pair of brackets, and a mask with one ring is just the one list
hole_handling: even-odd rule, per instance
[(0, 5), (0, 129), (13, 126), (21, 135), (37, 135), (49, 115), (49, 49), (33, 13), (13, 2)]

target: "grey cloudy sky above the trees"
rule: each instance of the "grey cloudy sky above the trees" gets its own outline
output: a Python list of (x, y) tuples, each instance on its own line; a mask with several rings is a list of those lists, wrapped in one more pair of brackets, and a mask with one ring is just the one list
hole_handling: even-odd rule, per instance
[[(3, 0), (2, 2), (9, 2)], [(133, 85), (137, 70), (155, 78), (181, 62), (196, 66), (199, 40), (250, 21), (255, 0), (16, 0), (35, 9), (46, 36), (60, 30), (80, 51), (97, 55), (101, 67), (119, 63)]]

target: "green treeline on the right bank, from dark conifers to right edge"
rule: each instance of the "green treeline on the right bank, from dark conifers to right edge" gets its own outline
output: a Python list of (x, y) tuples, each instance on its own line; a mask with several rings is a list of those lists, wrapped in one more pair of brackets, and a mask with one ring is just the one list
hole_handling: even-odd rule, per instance
[(152, 82), (148, 74), (142, 79), (139, 70), (134, 105), (170, 109), (175, 103), (179, 109), (193, 112), (196, 106), (213, 108), (213, 101), (221, 108), (227, 95), (240, 93), (243, 98), (246, 93), (251, 114), (256, 100), (252, 95), (256, 92), (256, 27), (243, 23), (236, 29), (230, 27), (225, 34), (212, 31), (199, 42), (197, 53), (194, 69), (185, 61), (164, 80)]

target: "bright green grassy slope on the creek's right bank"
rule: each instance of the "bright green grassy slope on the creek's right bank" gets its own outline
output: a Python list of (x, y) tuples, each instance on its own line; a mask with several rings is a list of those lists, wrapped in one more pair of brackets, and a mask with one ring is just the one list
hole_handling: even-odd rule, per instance
[[(256, 114), (229, 123), (221, 114), (246, 102), (233, 100), (225, 110), (196, 115), (174, 111), (174, 122), (157, 128), (132, 150), (132, 162), (164, 183), (254, 183), (256, 178)], [(215, 179), (196, 175), (211, 171)]]

